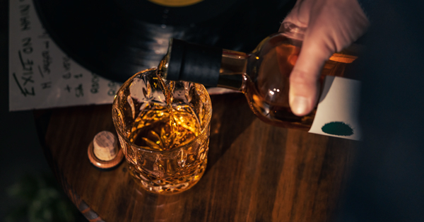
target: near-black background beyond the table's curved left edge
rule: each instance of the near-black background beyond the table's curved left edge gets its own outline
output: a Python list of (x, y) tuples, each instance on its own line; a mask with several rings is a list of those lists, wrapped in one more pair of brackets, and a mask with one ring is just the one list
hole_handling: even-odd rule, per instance
[[(35, 199), (43, 198), (34, 198), (33, 194), (40, 194), (42, 188), (57, 192), (55, 201), (66, 202), (76, 221), (86, 221), (54, 180), (37, 137), (33, 111), (8, 111), (8, 0), (0, 0), (0, 90), (0, 221), (19, 209), (23, 211), (14, 221), (29, 221), (28, 207)], [(11, 194), (17, 185), (22, 197)]]

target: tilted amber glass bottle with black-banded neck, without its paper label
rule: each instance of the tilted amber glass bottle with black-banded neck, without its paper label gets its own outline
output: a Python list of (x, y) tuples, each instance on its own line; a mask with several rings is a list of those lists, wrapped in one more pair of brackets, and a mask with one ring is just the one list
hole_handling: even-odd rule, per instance
[[(202, 83), (245, 93), (249, 107), (262, 121), (278, 127), (309, 130), (317, 108), (298, 117), (288, 103), (289, 76), (298, 59), (305, 33), (293, 23), (266, 37), (251, 53), (194, 45), (172, 39), (158, 72), (168, 80)], [(334, 54), (324, 65), (324, 76), (343, 76), (355, 56)]]

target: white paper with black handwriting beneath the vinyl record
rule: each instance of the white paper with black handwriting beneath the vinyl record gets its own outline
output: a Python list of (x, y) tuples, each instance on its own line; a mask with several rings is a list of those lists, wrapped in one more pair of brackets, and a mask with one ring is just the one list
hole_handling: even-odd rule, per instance
[(112, 103), (121, 83), (84, 69), (54, 44), (33, 1), (9, 1), (9, 110)]

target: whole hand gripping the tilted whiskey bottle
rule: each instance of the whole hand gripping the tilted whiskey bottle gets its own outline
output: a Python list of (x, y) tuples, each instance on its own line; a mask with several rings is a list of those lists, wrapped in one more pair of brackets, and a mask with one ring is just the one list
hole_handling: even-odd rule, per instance
[(369, 21), (357, 0), (298, 0), (285, 21), (306, 28), (298, 61), (290, 74), (289, 91), (292, 112), (303, 116), (317, 103), (324, 63), (331, 54), (363, 35)]

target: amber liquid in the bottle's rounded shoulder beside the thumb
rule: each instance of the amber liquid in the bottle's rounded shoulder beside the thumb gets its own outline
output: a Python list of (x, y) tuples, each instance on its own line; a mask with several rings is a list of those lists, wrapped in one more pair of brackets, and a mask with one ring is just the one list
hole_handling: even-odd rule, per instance
[[(309, 129), (315, 110), (298, 117), (288, 103), (288, 78), (300, 48), (283, 35), (273, 38), (261, 52), (243, 54), (224, 49), (220, 75), (240, 75), (242, 86), (234, 89), (245, 93), (249, 107), (262, 121), (279, 127)], [(226, 87), (225, 83), (218, 86)]]

